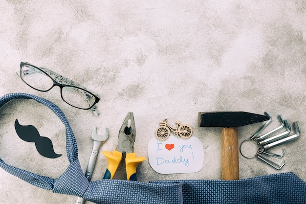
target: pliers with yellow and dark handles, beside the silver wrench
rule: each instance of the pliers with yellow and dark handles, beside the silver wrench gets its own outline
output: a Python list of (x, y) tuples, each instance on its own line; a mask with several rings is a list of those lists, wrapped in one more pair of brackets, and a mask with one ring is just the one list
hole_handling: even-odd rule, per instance
[(113, 152), (103, 151), (102, 154), (108, 159), (109, 164), (103, 179), (112, 179), (117, 168), (125, 158), (127, 180), (136, 181), (136, 167), (146, 160), (145, 157), (135, 156), (134, 141), (136, 136), (136, 128), (133, 113), (129, 112), (123, 121), (119, 131), (118, 145)]

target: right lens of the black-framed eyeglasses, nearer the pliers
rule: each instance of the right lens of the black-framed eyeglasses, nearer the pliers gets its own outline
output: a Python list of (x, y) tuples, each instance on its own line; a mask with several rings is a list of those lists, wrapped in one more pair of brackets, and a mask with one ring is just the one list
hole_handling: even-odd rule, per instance
[(62, 98), (66, 103), (81, 109), (90, 108), (96, 100), (92, 94), (76, 87), (63, 87)]

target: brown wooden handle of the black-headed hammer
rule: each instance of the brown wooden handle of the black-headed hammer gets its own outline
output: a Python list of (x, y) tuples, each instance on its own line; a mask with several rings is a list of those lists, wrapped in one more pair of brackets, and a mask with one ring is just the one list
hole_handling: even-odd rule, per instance
[(222, 180), (239, 180), (239, 147), (237, 127), (224, 128), (221, 133)]

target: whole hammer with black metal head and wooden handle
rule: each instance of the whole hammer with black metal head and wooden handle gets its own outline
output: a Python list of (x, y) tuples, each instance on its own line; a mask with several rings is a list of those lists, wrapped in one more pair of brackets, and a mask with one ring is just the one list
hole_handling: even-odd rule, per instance
[(199, 127), (222, 127), (221, 129), (221, 178), (239, 180), (238, 128), (268, 120), (266, 115), (247, 112), (200, 112)]

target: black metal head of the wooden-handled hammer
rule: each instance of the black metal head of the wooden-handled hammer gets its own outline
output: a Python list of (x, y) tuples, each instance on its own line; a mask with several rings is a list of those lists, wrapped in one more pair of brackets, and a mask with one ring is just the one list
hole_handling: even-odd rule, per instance
[(200, 112), (199, 127), (240, 127), (268, 120), (266, 115), (247, 112)]

